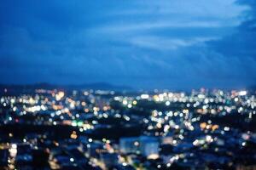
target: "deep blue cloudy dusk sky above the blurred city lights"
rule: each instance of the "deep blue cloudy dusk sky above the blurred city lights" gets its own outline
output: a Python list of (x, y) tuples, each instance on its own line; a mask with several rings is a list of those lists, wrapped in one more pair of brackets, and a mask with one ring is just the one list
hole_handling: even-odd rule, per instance
[(1, 1), (0, 82), (256, 84), (255, 0)]

